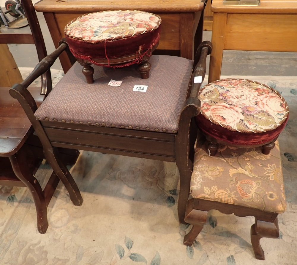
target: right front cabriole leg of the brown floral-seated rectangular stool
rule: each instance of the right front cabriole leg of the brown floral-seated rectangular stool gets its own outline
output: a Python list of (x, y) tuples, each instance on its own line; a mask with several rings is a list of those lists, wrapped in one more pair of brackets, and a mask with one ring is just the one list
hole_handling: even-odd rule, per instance
[(251, 242), (255, 257), (260, 260), (265, 259), (264, 251), (260, 245), (260, 239), (262, 237), (268, 238), (278, 238), (279, 237), (279, 227), (277, 218), (275, 218), (273, 223), (257, 220), (255, 224), (251, 226)]

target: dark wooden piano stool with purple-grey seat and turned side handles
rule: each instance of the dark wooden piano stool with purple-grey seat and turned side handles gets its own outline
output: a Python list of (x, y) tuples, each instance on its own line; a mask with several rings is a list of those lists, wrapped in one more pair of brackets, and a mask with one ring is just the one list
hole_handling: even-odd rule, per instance
[[(149, 79), (141, 79), (135, 65), (118, 69), (97, 66), (94, 83), (86, 84), (80, 65), (75, 63), (37, 107), (26, 87), (67, 47), (62, 41), (22, 84), (10, 89), (37, 132), (53, 170), (61, 178), (69, 175), (57, 147), (175, 162), (180, 173), (178, 218), (184, 222), (197, 137), (193, 117), (200, 109), (197, 93), (211, 43), (200, 44), (194, 65), (186, 58), (152, 55)], [(193, 66), (200, 81), (188, 85)], [(108, 85), (111, 79), (123, 82), (112, 87)]]

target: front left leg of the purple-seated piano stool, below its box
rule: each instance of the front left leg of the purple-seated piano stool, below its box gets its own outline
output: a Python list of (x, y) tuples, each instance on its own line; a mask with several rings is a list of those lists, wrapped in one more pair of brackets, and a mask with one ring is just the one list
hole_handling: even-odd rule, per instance
[(45, 148), (43, 149), (43, 152), (48, 163), (56, 172), (56, 174), (64, 184), (65, 188), (67, 189), (72, 203), (76, 206), (81, 206), (83, 203), (83, 198), (81, 197), (78, 186), (72, 178), (72, 175), (70, 174), (69, 170), (59, 159), (58, 150), (56, 148), (53, 148), (51, 150)]

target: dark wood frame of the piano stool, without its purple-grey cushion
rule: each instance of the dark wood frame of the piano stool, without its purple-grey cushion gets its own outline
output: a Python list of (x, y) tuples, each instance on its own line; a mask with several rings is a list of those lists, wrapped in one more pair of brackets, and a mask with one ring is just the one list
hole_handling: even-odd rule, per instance
[[(206, 57), (211, 53), (211, 49), (211, 43), (204, 41), (198, 47), (195, 56), (194, 66), (196, 67), (193, 75), (202, 76), (202, 80), (206, 72)], [(200, 100), (197, 96), (201, 83), (192, 82), (189, 85), (189, 92), (180, 114), (176, 133), (38, 121), (34, 116), (37, 105), (26, 87), (40, 74), (47, 71), (64, 50), (69, 54), (67, 43), (61, 41), (59, 48), (42, 60), (22, 84), (16, 84), (10, 89), (10, 95), (20, 102), (37, 132), (45, 157), (53, 170), (61, 179), (67, 179), (70, 175), (67, 167), (59, 158), (57, 148), (61, 147), (176, 162), (180, 173), (178, 218), (184, 223), (193, 169), (194, 144), (197, 138), (197, 127), (193, 117), (200, 112)], [(73, 185), (71, 188), (66, 183), (64, 185), (72, 201), (76, 201), (78, 191), (74, 192)]]

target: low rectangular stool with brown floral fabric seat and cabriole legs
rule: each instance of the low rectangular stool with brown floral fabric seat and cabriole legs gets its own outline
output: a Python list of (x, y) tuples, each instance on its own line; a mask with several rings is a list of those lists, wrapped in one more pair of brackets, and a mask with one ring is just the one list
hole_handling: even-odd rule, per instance
[(278, 238), (277, 215), (286, 209), (282, 164), (278, 141), (270, 154), (260, 147), (236, 148), (219, 145), (209, 156), (207, 142), (198, 141), (185, 221), (193, 224), (184, 244), (192, 245), (206, 223), (211, 209), (237, 216), (254, 216), (252, 247), (257, 259), (264, 260), (262, 237)]

